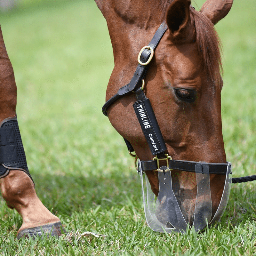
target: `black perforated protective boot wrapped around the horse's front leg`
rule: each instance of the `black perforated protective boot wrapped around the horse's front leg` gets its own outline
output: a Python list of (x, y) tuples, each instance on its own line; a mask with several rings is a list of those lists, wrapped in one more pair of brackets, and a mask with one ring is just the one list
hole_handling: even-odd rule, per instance
[(26, 172), (33, 181), (28, 172), (16, 116), (6, 118), (0, 124), (0, 178), (6, 176), (10, 169)]

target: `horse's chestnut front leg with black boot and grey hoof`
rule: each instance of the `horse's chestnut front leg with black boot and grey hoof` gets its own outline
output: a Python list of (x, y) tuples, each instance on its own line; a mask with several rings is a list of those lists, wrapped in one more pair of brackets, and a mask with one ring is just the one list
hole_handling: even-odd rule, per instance
[[(16, 118), (17, 87), (12, 64), (5, 49), (0, 27), (0, 187), (8, 207), (23, 219), (22, 236), (60, 236), (60, 219), (42, 204), (28, 172)], [(65, 232), (65, 230), (63, 230)]]

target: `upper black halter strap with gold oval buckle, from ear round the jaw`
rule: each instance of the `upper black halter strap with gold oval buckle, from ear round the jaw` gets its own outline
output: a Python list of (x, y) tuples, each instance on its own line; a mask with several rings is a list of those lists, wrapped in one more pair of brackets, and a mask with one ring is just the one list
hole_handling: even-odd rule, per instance
[[(143, 47), (145, 49), (141, 52), (141, 55), (140, 55), (140, 62), (142, 64), (140, 64), (140, 63), (138, 64), (130, 83), (121, 87), (118, 90), (118, 92), (114, 96), (112, 96), (109, 100), (107, 100), (107, 102), (103, 105), (102, 112), (105, 116), (108, 116), (107, 108), (112, 103), (114, 103), (117, 99), (119, 99), (124, 94), (126, 94), (128, 92), (132, 92), (135, 89), (137, 89), (138, 84), (142, 80), (142, 78), (145, 75), (147, 68), (148, 68), (148, 64), (146, 64), (146, 63), (147, 63), (148, 59), (150, 58), (150, 55), (152, 52), (150, 48), (152, 48), (153, 50), (156, 49), (158, 43), (160, 42), (160, 40), (163, 37), (166, 30), (167, 30), (167, 25), (163, 22), (161, 24), (161, 26), (157, 29), (157, 31), (156, 31), (155, 35), (153, 36), (152, 40), (150, 41), (150, 43), (147, 45), (148, 47), (147, 48)], [(143, 63), (145, 63), (146, 65), (143, 65)]]

